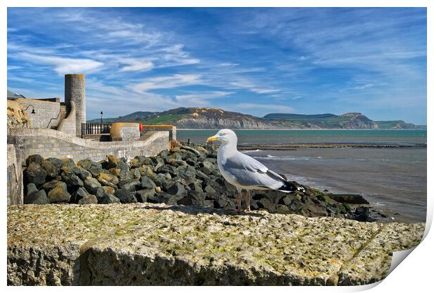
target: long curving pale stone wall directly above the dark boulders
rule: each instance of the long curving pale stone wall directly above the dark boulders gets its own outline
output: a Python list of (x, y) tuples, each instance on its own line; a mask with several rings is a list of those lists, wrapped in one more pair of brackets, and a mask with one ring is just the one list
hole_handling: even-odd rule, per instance
[(15, 145), (22, 159), (42, 157), (71, 158), (74, 161), (106, 159), (107, 155), (154, 156), (169, 148), (167, 131), (153, 131), (144, 141), (90, 141), (53, 129), (8, 129), (8, 143)]

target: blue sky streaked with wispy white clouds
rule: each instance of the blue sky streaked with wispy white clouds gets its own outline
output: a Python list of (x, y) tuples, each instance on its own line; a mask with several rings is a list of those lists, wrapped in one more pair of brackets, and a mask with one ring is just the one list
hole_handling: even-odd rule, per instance
[(426, 8), (8, 8), (8, 89), (87, 118), (219, 107), (426, 124)]

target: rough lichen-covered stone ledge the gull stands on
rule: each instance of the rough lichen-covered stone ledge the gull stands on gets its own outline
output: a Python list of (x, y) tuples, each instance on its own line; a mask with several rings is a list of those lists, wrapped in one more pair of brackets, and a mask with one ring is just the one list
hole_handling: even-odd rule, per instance
[(359, 285), (424, 224), (131, 203), (8, 207), (9, 285)]

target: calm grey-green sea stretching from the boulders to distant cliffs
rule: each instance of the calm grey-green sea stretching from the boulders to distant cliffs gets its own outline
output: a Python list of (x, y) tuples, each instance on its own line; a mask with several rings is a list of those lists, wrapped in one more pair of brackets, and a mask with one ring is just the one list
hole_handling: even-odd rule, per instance
[[(426, 145), (426, 130), (238, 130), (239, 145), (360, 143)], [(204, 143), (216, 130), (179, 130), (179, 141)], [(426, 148), (300, 148), (247, 155), (300, 183), (363, 194), (374, 209), (403, 222), (426, 220)]]

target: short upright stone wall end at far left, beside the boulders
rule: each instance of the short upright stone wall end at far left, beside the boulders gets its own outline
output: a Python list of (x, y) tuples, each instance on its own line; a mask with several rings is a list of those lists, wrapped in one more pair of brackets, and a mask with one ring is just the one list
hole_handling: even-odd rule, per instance
[(8, 206), (23, 202), (21, 164), (20, 152), (15, 152), (15, 147), (8, 145)]

